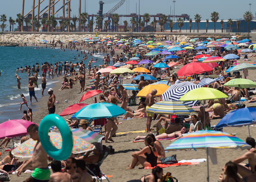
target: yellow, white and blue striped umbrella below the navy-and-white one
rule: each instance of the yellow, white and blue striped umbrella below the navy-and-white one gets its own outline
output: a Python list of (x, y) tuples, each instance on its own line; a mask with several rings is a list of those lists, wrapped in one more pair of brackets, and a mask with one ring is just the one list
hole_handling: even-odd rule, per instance
[(181, 101), (160, 101), (150, 106), (146, 113), (190, 115), (196, 112)]

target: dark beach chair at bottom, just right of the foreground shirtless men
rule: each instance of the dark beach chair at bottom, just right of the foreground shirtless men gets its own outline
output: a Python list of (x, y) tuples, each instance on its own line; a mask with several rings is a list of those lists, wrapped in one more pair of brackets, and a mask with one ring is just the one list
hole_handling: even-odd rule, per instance
[(108, 182), (110, 182), (109, 179), (107, 178), (107, 176), (104, 175), (104, 174), (101, 172), (100, 166), (101, 166), (101, 164), (103, 163), (103, 161), (107, 158), (107, 156), (110, 154), (111, 147), (110, 147), (110, 146), (107, 147), (107, 146), (103, 145), (103, 146), (102, 146), (102, 149), (103, 149), (102, 155), (101, 155), (101, 158), (99, 159), (98, 163), (96, 163), (96, 164), (88, 164), (88, 165), (86, 166), (86, 168), (87, 168), (88, 172), (89, 172), (91, 175), (97, 177), (97, 181), (98, 181), (98, 182), (99, 182), (99, 181), (102, 182), (102, 179), (101, 179), (102, 176), (104, 176), (104, 177), (106, 178), (106, 180), (107, 180)]

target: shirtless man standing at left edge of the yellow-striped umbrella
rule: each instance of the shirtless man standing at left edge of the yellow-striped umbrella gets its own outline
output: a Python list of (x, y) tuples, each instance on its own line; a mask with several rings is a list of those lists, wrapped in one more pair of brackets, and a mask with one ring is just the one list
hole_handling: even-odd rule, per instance
[[(157, 93), (156, 89), (153, 89), (149, 94), (146, 95), (146, 110), (151, 107), (153, 104), (155, 104), (154, 101), (154, 95)], [(152, 113), (146, 113), (146, 132), (150, 132), (150, 127), (151, 127), (151, 122), (152, 122), (152, 117), (154, 116), (154, 114)]]

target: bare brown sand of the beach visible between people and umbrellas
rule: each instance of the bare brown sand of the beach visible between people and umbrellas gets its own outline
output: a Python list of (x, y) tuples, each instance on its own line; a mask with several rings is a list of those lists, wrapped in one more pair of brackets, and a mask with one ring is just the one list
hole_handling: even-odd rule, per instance
[[(250, 61), (256, 61), (256, 58), (249, 58)], [(249, 62), (249, 61), (243, 61), (243, 59), (238, 60), (239, 63), (243, 62)], [(177, 66), (177, 68), (174, 69), (174, 71), (177, 71), (182, 66)], [(241, 73), (242, 75), (242, 73)], [(127, 76), (126, 76), (127, 77)], [(244, 78), (244, 77), (242, 77)], [(249, 70), (249, 76), (248, 79), (255, 80), (256, 79), (256, 72), (255, 70)], [(54, 94), (56, 96), (56, 101), (58, 101), (59, 104), (55, 104), (56, 106), (56, 114), (61, 113), (67, 106), (71, 104), (78, 103), (80, 98), (82, 97), (82, 94), (80, 92), (80, 84), (77, 83), (73, 85), (72, 89), (64, 89), (62, 91), (59, 91), (58, 89), (61, 87), (61, 81), (63, 79), (61, 78), (55, 78), (56, 80), (59, 80), (55, 84)], [(124, 79), (124, 83), (130, 83), (130, 79)], [(89, 80), (86, 79), (86, 84), (89, 84)], [(46, 89), (49, 88), (46, 86)], [(130, 92), (131, 94), (131, 92)], [(33, 120), (36, 123), (40, 123), (40, 121), (43, 119), (44, 116), (48, 113), (47, 108), (47, 100), (49, 95), (47, 95), (47, 92), (45, 92), (45, 96), (43, 96), (37, 105), (37, 111), (33, 112)], [(99, 100), (98, 96), (96, 96)], [(68, 100), (67, 103), (64, 101)], [(159, 99), (158, 99), (159, 100)], [(83, 101), (82, 103), (86, 104), (92, 104), (94, 103), (94, 97), (87, 99)], [(137, 99), (138, 103), (138, 99)], [(246, 104), (247, 106), (255, 106), (256, 103), (250, 103)], [(120, 106), (120, 105), (119, 105)], [(137, 108), (137, 106), (134, 106), (134, 108)], [(63, 117), (64, 119), (67, 119), (68, 116)], [(216, 125), (220, 119), (217, 120), (211, 120), (211, 125)], [(133, 179), (139, 179), (141, 176), (151, 173), (151, 170), (149, 169), (139, 169), (140, 166), (135, 167), (135, 169), (126, 170), (127, 166), (131, 162), (131, 153), (134, 151), (138, 151), (140, 147), (145, 147), (144, 142), (136, 142), (132, 143), (133, 139), (135, 139), (138, 135), (146, 136), (146, 118), (136, 118), (136, 119), (130, 119), (130, 120), (120, 120), (118, 125), (118, 131), (123, 132), (122, 134), (117, 134), (116, 137), (113, 138), (115, 142), (111, 144), (107, 144), (107, 146), (111, 145), (115, 149), (114, 155), (109, 155), (101, 165), (101, 171), (106, 175), (113, 175), (111, 178), (109, 178), (110, 182), (127, 182), (129, 180)], [(156, 123), (156, 121), (153, 121), (151, 126), (153, 126)], [(255, 138), (256, 136), (256, 125), (250, 126), (250, 133), (251, 136)], [(104, 130), (104, 128), (103, 128)], [(139, 132), (144, 130), (144, 132)], [(130, 131), (138, 131), (136, 133), (132, 133)], [(225, 127), (223, 131), (228, 133), (233, 133), (238, 137), (239, 139), (242, 139), (245, 141), (245, 139), (248, 137), (248, 128), (243, 127)], [(154, 131), (155, 132), (155, 128)], [(162, 140), (161, 143), (164, 147), (167, 147), (171, 142), (170, 140)], [(104, 141), (103, 143), (104, 144)], [(10, 146), (10, 144), (9, 144)], [(219, 174), (221, 173), (221, 167), (224, 166), (229, 160), (232, 160), (238, 156), (241, 156), (244, 154), (247, 150), (241, 150), (241, 149), (217, 149), (217, 157), (218, 157), (218, 164), (212, 165), (211, 161), (209, 161), (209, 169), (210, 169), (210, 182), (217, 182), (219, 180)], [(6, 156), (8, 152), (4, 152), (4, 149), (1, 148), (0, 152), (2, 153), (1, 158)], [(171, 155), (177, 155), (177, 160), (189, 160), (189, 159), (201, 159), (206, 158), (206, 152), (203, 149), (198, 149), (197, 151), (194, 150), (181, 150), (181, 151), (170, 151), (166, 153), (166, 156)], [(19, 159), (22, 160), (22, 159)], [(210, 160), (210, 159), (209, 159)], [(163, 168), (164, 173), (171, 172), (174, 177), (176, 177), (179, 182), (205, 182), (207, 177), (207, 163), (201, 162), (198, 165), (180, 165), (180, 166), (171, 166)], [(9, 178), (11, 182), (21, 182), (25, 180), (31, 173), (22, 173), (20, 177), (18, 177), (16, 174), (10, 174)]]

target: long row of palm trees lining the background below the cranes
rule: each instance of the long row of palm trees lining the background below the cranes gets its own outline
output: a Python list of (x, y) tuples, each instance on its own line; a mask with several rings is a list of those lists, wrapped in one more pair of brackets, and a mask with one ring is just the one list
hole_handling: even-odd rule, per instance
[[(211, 21), (214, 23), (214, 32), (216, 32), (216, 23), (219, 20), (219, 13), (214, 11), (210, 14), (211, 17)], [(250, 11), (246, 11), (245, 14), (243, 15), (245, 21), (247, 22), (247, 31), (249, 33), (249, 22), (252, 21), (253, 19), (253, 15), (252, 12)], [(195, 23), (197, 24), (197, 32), (199, 32), (199, 23), (201, 22), (201, 15), (196, 14), (194, 15), (194, 20)], [(115, 32), (118, 31), (118, 26), (119, 26), (119, 15), (117, 13), (114, 13), (111, 15), (111, 19), (114, 25), (114, 30)], [(145, 13), (143, 15), (143, 19), (144, 21), (141, 20), (141, 18), (138, 19), (138, 21), (136, 20), (135, 17), (131, 17), (130, 18), (130, 23), (132, 25), (132, 31), (135, 31), (135, 28), (138, 27), (139, 31), (143, 31), (144, 30), (144, 26), (146, 24), (146, 31), (148, 32), (148, 23), (150, 21), (150, 15), (148, 13)], [(5, 22), (7, 22), (7, 17), (5, 14), (0, 15), (0, 21), (2, 22), (2, 24), (0, 24), (0, 28), (2, 29), (2, 31), (6, 28), (6, 24), (4, 24)], [(72, 21), (72, 22), (71, 22)], [(61, 27), (61, 31), (64, 31), (64, 27), (67, 27), (67, 30), (69, 31), (70, 29), (72, 31), (76, 31), (76, 24), (77, 22), (79, 23), (79, 31), (85, 31), (85, 27), (86, 27), (86, 22), (88, 21), (87, 27), (88, 27), (88, 31), (92, 31), (92, 27), (93, 27), (93, 20), (88, 20), (88, 14), (87, 13), (82, 13), (80, 15), (80, 19), (79, 17), (73, 16), (71, 19), (65, 18), (63, 20), (59, 20), (59, 24)], [(150, 26), (152, 26), (153, 31), (156, 31), (156, 24), (157, 22), (159, 23), (160, 27), (161, 27), (161, 32), (165, 32), (165, 24), (167, 23), (168, 19), (167, 16), (165, 14), (162, 14), (160, 19), (157, 21), (156, 18), (154, 17), (153, 21), (150, 23)], [(28, 27), (33, 25), (33, 29), (36, 27), (37, 31), (39, 31), (39, 28), (41, 27), (41, 25), (43, 26), (47, 26), (47, 31), (55, 31), (55, 27), (57, 26), (57, 20), (55, 18), (54, 15), (50, 16), (49, 20), (46, 18), (42, 18), (42, 20), (37, 20), (36, 18), (33, 18), (32, 20), (28, 17), (23, 17), (20, 13), (17, 14), (17, 18), (16, 20), (12, 19), (11, 17), (9, 17), (9, 31), (13, 31), (13, 26), (18, 23), (19, 26), (19, 31), (21, 31), (21, 27), (23, 26), (23, 23), (25, 22), (26, 25), (26, 30), (28, 31)], [(182, 30), (182, 27), (184, 25), (184, 20), (183, 18), (178, 18), (177, 19), (177, 26), (180, 27), (180, 32)], [(236, 25), (237, 25), (237, 29), (239, 32), (239, 25), (240, 25), (240, 20), (236, 20)], [(103, 18), (100, 16), (96, 17), (96, 27), (100, 30), (102, 27), (102, 23), (103, 23)], [(128, 26), (128, 22), (125, 20), (123, 21), (124, 23), (124, 31), (127, 31), (127, 26)], [(189, 19), (189, 23), (190, 23), (190, 32), (191, 32), (191, 28), (192, 28), (192, 19)], [(221, 19), (219, 21), (220, 25), (221, 25), (221, 32), (223, 32), (223, 24), (224, 24), (224, 20)], [(229, 32), (231, 32), (231, 25), (234, 23), (234, 21), (229, 18), (228, 19), (228, 25), (229, 25)], [(209, 24), (209, 19), (206, 19), (206, 32), (208, 32), (208, 24)], [(108, 30), (108, 25), (109, 25), (109, 20), (105, 20), (104, 21), (104, 30), (107, 31)], [(168, 23), (168, 26), (171, 29), (171, 32), (173, 32), (173, 26), (174, 26), (174, 21), (170, 20)]]

